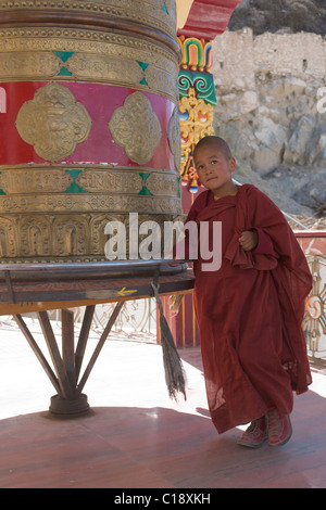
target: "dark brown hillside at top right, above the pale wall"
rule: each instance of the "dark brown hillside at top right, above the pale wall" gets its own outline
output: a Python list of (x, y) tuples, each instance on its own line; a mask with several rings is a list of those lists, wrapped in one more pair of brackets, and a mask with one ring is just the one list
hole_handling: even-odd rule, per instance
[(242, 0), (235, 9), (228, 28), (244, 26), (254, 35), (265, 31), (309, 31), (325, 36), (325, 0)]

